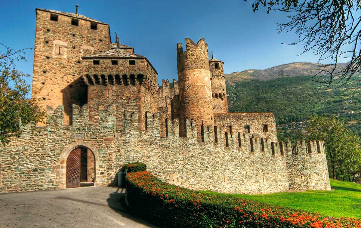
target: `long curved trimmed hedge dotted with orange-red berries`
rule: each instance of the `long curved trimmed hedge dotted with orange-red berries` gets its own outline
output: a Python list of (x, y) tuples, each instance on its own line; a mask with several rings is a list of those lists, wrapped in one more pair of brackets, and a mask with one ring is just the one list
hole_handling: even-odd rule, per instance
[(166, 184), (149, 172), (129, 173), (127, 201), (140, 217), (165, 227), (361, 228), (361, 219), (327, 218), (225, 195)]

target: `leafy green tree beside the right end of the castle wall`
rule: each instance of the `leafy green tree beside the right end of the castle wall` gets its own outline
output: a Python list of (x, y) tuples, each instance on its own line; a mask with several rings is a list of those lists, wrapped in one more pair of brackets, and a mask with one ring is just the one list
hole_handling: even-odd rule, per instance
[(307, 130), (311, 139), (324, 141), (332, 179), (354, 181), (361, 164), (358, 136), (337, 117), (311, 117)]

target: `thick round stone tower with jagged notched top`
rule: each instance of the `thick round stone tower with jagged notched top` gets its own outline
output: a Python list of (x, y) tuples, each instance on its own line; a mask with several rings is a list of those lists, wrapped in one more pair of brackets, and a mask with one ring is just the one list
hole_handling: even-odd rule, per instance
[(213, 126), (212, 87), (208, 62), (208, 44), (204, 38), (195, 44), (186, 38), (186, 51), (177, 45), (178, 88), (179, 88), (179, 133), (186, 136), (184, 119), (196, 120), (198, 139), (201, 139), (201, 125)]

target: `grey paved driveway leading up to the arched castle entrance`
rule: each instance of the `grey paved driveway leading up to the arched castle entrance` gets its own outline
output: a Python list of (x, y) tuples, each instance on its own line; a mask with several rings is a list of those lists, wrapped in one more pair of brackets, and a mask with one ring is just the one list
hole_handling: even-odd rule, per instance
[(0, 194), (0, 227), (155, 227), (123, 212), (125, 189), (82, 187)]

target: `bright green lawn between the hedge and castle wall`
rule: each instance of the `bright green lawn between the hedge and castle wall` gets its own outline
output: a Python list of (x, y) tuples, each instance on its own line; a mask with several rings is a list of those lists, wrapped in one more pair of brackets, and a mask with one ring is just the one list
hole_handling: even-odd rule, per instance
[[(337, 180), (330, 182), (332, 191), (232, 194), (232, 196), (318, 212), (326, 216), (361, 218), (361, 185)], [(222, 194), (208, 191), (207, 193)]]

